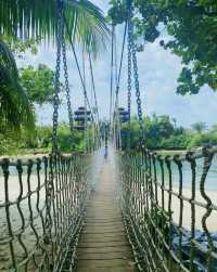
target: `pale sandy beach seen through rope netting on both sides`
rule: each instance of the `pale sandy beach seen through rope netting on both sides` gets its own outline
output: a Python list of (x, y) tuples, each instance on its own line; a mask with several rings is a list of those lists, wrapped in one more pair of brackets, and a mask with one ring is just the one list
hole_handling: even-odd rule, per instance
[[(21, 156), (22, 159), (28, 159), (28, 158), (36, 158), (36, 157), (42, 157), (44, 156), (43, 154), (38, 154), (38, 155), (34, 155), (30, 156), (26, 155), (26, 156)], [(14, 157), (14, 159), (16, 159), (17, 157)], [(95, 177), (95, 171), (100, 171), (101, 170), (101, 164), (102, 164), (103, 159), (101, 157), (98, 157), (98, 159), (95, 160), (95, 167), (93, 167), (94, 171), (92, 172), (92, 177)], [(20, 182), (18, 182), (18, 177), (17, 177), (17, 170), (15, 169), (15, 166), (11, 167), (10, 169), (11, 174), (9, 178), (9, 198), (11, 202), (14, 202), (17, 199), (21, 187), (20, 187)], [(115, 170), (114, 170), (115, 172)], [(99, 176), (99, 173), (97, 174)], [(98, 181), (95, 180), (95, 178), (92, 178), (92, 180), (94, 180), (94, 185), (98, 184)], [(42, 184), (44, 182), (44, 174), (41, 170), (41, 174), (40, 174), (40, 183)], [(90, 181), (92, 182), (92, 181)], [(0, 176), (0, 184), (1, 184), (1, 190), (0, 190), (0, 205), (3, 204), (4, 199), (5, 199), (5, 192), (4, 192), (4, 179), (2, 176)], [(38, 177), (36, 174), (36, 171), (33, 171), (31, 178), (30, 178), (30, 190), (34, 191), (36, 190), (38, 186)], [(178, 186), (176, 186), (174, 184), (173, 191), (176, 192), (178, 194)], [(217, 191), (205, 191), (206, 194), (208, 195), (208, 197), (212, 199), (212, 203), (214, 205), (217, 206)], [(27, 173), (26, 173), (26, 169), (24, 170), (23, 173), (23, 195), (26, 195), (28, 193), (28, 186), (27, 186)], [(182, 195), (187, 198), (191, 198), (191, 189), (190, 187), (183, 187), (182, 190)], [(165, 192), (164, 193), (164, 203), (165, 203), (165, 210), (168, 210), (168, 193)], [(41, 190), (40, 192), (40, 208), (43, 206), (44, 204), (44, 198), (46, 198), (46, 192), (44, 192), (44, 187)], [(157, 198), (158, 198), (158, 205), (162, 206), (162, 191), (158, 187), (157, 191)], [(206, 205), (206, 200), (202, 197), (200, 191), (196, 191), (195, 194), (195, 200), (202, 203), (203, 205)], [(37, 194), (31, 195), (31, 204), (33, 204), (33, 213), (34, 216), (37, 213), (37, 207), (36, 207), (36, 203), (37, 203)], [(28, 199), (24, 200), (21, 205), (22, 211), (24, 213), (24, 218), (25, 221), (27, 222), (29, 220), (29, 207), (28, 207)], [(171, 197), (171, 210), (173, 210), (173, 220), (176, 224), (179, 224), (179, 217), (180, 217), (180, 199), (173, 195)], [(203, 226), (202, 226), (202, 219), (206, 213), (206, 208), (204, 207), (200, 207), (197, 205), (195, 205), (195, 229), (196, 230), (201, 230), (204, 231)], [(13, 224), (13, 231), (17, 231), (21, 226), (22, 226), (22, 221), (21, 221), (21, 216), (18, 213), (17, 210), (17, 206), (13, 205), (10, 207), (10, 217), (11, 217), (11, 222)], [(182, 216), (182, 226), (187, 230), (191, 229), (191, 222), (192, 222), (192, 210), (191, 210), (191, 204), (188, 200), (183, 200), (183, 216)], [(4, 208), (0, 208), (0, 225), (2, 226), (0, 230), (0, 236), (2, 238), (7, 238), (8, 237), (8, 224), (7, 224), (7, 220), (5, 220), (5, 209)], [(38, 220), (35, 220), (35, 226), (37, 228), (38, 233), (40, 234), (42, 231), (42, 226), (41, 226), (41, 222), (40, 222), (40, 218), (38, 218)], [(213, 210), (210, 216), (207, 218), (206, 220), (206, 226), (207, 230), (209, 232), (217, 232), (217, 210)], [(42, 233), (41, 233), (42, 234)], [(36, 243), (36, 237), (33, 233), (31, 228), (27, 228), (25, 231), (25, 234), (23, 235), (23, 242), (25, 243), (25, 245), (27, 245), (28, 249), (30, 250), (33, 245), (35, 245)], [(21, 246), (17, 243), (17, 241), (14, 243), (15, 245), (15, 252), (17, 256), (20, 256), (20, 251), (23, 252), (21, 250)], [(4, 267), (4, 256), (9, 256), (9, 244), (5, 245), (0, 245), (0, 271), (5, 271), (3, 270)], [(8, 260), (5, 259), (5, 262)]]

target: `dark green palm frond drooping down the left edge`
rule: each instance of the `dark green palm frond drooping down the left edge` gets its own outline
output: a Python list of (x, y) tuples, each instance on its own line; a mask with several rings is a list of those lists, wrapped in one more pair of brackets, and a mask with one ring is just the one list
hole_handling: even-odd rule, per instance
[(33, 108), (27, 93), (22, 88), (16, 63), (9, 47), (0, 40), (0, 127), (33, 130), (35, 125)]

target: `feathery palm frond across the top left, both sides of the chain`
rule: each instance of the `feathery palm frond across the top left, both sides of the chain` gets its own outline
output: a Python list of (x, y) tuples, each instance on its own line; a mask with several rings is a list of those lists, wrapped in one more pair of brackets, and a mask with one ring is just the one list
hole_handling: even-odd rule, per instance
[[(56, 0), (0, 0), (0, 34), (55, 40)], [(64, 0), (72, 34), (97, 53), (105, 46), (108, 28), (101, 10), (88, 0)]]

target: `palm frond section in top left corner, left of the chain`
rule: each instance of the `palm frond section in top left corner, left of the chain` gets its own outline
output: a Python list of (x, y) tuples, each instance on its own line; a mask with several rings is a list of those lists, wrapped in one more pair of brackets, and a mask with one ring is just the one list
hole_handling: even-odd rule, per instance
[(55, 34), (55, 0), (0, 0), (1, 34), (50, 38)]

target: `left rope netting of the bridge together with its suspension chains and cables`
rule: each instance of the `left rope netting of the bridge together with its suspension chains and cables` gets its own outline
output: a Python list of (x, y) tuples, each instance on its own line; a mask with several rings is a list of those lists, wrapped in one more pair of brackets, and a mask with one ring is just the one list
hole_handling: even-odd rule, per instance
[[(101, 142), (92, 61), (88, 52), (94, 106), (89, 102), (86, 88), (85, 61), (82, 76), (65, 17), (65, 2), (56, 0), (56, 7), (52, 154), (37, 159), (0, 160), (0, 271), (73, 271), (86, 199), (91, 191), (92, 157)], [(85, 102), (85, 106), (76, 111), (80, 114), (77, 120), (72, 107), (66, 34)], [(71, 155), (61, 155), (59, 148), (62, 76), (71, 130)], [(80, 127), (75, 122), (81, 124)], [(82, 153), (75, 153), (75, 130), (78, 131), (78, 127), (84, 132)]]

